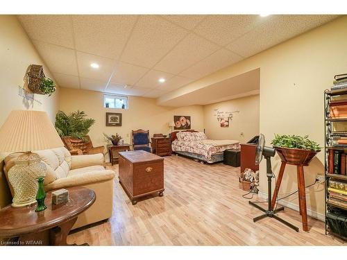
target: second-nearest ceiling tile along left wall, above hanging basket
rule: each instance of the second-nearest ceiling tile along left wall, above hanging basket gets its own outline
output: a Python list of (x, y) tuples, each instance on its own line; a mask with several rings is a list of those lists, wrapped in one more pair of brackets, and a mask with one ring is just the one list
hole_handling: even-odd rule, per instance
[(37, 40), (33, 40), (33, 44), (50, 71), (78, 76), (76, 55), (73, 49)]

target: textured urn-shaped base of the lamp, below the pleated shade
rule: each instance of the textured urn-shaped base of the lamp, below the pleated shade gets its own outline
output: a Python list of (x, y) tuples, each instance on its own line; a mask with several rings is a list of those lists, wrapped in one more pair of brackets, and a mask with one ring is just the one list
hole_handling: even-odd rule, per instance
[(14, 191), (12, 207), (24, 207), (36, 202), (37, 177), (44, 176), (45, 173), (46, 164), (41, 162), (37, 153), (19, 155), (15, 166), (8, 171), (8, 180)]

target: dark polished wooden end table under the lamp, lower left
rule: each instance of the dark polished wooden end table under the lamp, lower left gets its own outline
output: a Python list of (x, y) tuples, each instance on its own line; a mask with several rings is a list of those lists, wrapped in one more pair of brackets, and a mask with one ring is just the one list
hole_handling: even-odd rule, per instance
[(9, 245), (67, 245), (67, 235), (76, 223), (77, 217), (93, 205), (96, 196), (87, 188), (71, 187), (69, 202), (52, 205), (51, 192), (46, 194), (47, 209), (35, 212), (36, 203), (26, 207), (12, 207), (0, 210), (0, 237), (18, 237)]

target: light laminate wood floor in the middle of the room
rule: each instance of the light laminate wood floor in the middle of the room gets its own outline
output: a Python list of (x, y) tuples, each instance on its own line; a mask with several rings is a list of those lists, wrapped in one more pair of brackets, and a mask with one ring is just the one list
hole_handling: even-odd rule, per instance
[[(279, 216), (299, 227), (299, 233), (271, 218), (253, 223), (253, 217), (262, 212), (242, 198), (245, 192), (239, 189), (239, 168), (204, 165), (175, 155), (164, 158), (163, 197), (149, 196), (133, 206), (116, 177), (110, 220), (70, 234), (68, 243), (344, 245), (325, 236), (324, 223), (314, 218), (308, 220), (310, 231), (303, 232), (300, 215), (287, 208)], [(118, 173), (117, 165), (112, 168)], [(266, 207), (266, 203), (260, 205)]]

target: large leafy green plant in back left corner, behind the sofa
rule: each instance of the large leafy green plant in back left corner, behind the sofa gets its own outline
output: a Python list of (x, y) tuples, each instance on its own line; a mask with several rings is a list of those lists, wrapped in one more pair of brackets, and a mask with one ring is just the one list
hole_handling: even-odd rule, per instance
[(85, 136), (94, 125), (95, 120), (86, 117), (87, 114), (84, 111), (77, 110), (69, 114), (59, 111), (56, 114), (55, 125), (60, 137), (76, 137), (82, 141), (87, 141)]

